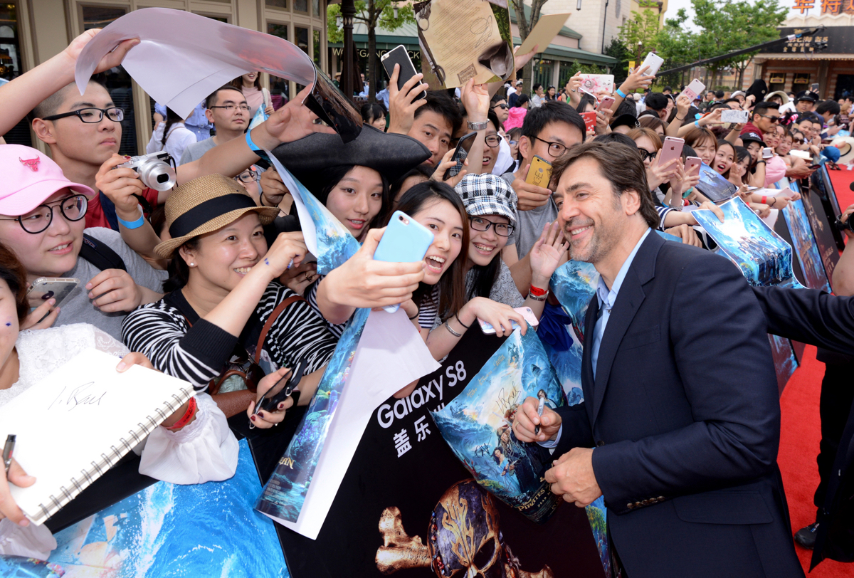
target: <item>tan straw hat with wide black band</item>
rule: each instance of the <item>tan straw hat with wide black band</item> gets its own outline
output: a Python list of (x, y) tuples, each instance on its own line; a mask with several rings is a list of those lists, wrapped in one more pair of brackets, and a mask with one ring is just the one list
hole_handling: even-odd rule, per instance
[(258, 213), (261, 225), (278, 215), (278, 207), (259, 207), (234, 179), (220, 174), (194, 178), (179, 184), (166, 201), (168, 241), (155, 247), (155, 253), (171, 259), (175, 249), (194, 236), (217, 231), (245, 213)]

